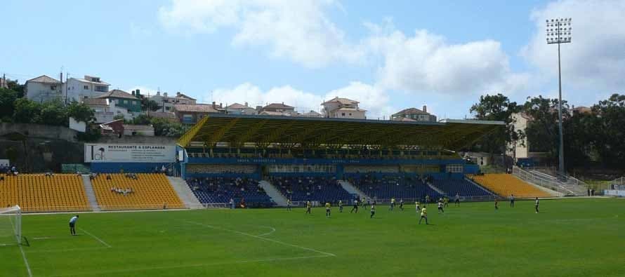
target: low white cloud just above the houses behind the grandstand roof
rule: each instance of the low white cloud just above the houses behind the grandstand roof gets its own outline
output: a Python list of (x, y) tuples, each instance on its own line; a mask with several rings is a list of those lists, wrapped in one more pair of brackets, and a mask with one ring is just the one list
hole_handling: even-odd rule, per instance
[(213, 91), (213, 100), (222, 104), (248, 102), (249, 106), (256, 107), (284, 102), (284, 104), (296, 107), (298, 112), (308, 112), (311, 109), (320, 112), (321, 103), (336, 96), (360, 101), (359, 107), (367, 109), (369, 119), (378, 119), (382, 116), (388, 119), (388, 116), (393, 113), (393, 109), (389, 106), (389, 97), (383, 90), (360, 82), (351, 82), (348, 86), (325, 93), (324, 96), (291, 86), (279, 86), (263, 91), (251, 83), (242, 83), (235, 88), (220, 88)]

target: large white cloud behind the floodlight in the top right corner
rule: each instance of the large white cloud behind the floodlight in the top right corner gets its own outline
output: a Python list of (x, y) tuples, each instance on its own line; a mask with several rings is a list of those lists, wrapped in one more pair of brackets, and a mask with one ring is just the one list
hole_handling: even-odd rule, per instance
[(553, 2), (532, 13), (536, 32), (522, 55), (541, 74), (557, 77), (558, 46), (546, 44), (546, 20), (572, 18), (572, 42), (561, 46), (563, 83), (621, 90), (625, 86), (624, 15), (623, 0)]

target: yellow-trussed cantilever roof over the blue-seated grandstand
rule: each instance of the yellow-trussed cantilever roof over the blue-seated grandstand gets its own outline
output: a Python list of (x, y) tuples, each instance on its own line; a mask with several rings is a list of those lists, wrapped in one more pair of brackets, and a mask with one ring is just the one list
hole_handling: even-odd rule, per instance
[(325, 119), (303, 116), (209, 114), (178, 144), (181, 147), (255, 143), (305, 147), (367, 145), (383, 148), (423, 147), (458, 150), (503, 126), (502, 121), (446, 119), (440, 122)]

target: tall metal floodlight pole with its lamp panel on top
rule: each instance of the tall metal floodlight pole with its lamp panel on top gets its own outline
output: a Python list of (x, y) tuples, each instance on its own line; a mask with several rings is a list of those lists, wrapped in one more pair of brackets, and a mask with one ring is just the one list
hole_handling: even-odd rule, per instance
[(546, 20), (547, 44), (558, 44), (558, 125), (560, 127), (560, 177), (565, 177), (564, 136), (562, 130), (562, 73), (560, 71), (560, 43), (571, 42), (571, 18)]

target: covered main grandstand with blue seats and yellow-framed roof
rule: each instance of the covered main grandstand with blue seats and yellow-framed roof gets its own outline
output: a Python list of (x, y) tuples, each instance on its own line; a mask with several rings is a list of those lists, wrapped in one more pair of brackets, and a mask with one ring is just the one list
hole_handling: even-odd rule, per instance
[[(501, 124), (214, 114), (180, 137), (176, 150), (183, 179), (204, 204), (266, 199), (248, 194), (254, 185), (244, 185), (248, 195), (237, 191), (237, 178), (266, 180), (292, 201), (346, 201), (359, 189), (382, 201), (442, 196), (421, 180), (426, 175), (447, 194), (484, 196), (470, 182), (445, 180), (477, 173), (455, 150)], [(343, 184), (352, 194), (338, 180), (350, 180)]]

